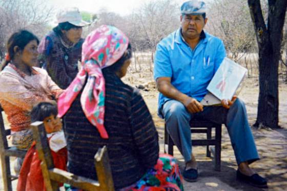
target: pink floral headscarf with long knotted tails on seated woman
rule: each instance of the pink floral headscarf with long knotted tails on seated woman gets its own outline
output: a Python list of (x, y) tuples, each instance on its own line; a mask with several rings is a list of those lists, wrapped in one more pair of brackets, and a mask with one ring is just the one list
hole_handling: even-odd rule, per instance
[(105, 79), (101, 69), (111, 66), (128, 48), (128, 37), (113, 26), (102, 25), (91, 32), (82, 47), (81, 70), (58, 99), (58, 117), (63, 117), (88, 81), (80, 103), (88, 120), (96, 126), (101, 138), (108, 139), (104, 127)]

